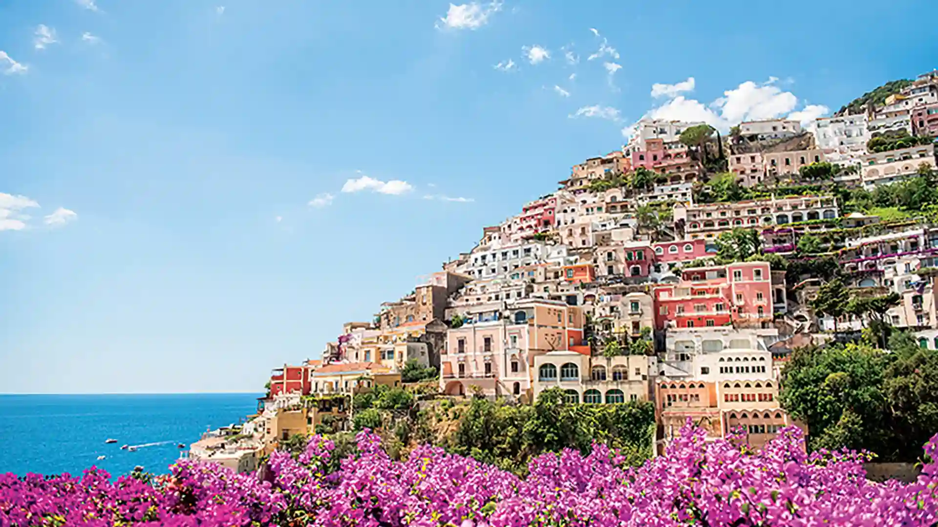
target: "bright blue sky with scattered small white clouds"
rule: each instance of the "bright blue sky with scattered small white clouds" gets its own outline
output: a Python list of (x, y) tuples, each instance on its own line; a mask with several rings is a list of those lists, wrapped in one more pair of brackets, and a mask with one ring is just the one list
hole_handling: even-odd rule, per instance
[(938, 66), (866, 4), (0, 2), (0, 392), (256, 391), (644, 114)]

